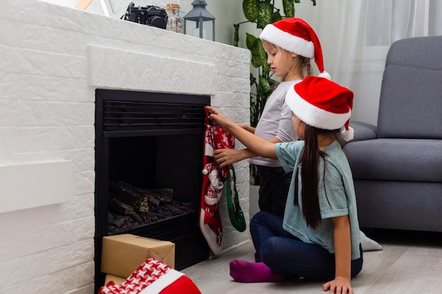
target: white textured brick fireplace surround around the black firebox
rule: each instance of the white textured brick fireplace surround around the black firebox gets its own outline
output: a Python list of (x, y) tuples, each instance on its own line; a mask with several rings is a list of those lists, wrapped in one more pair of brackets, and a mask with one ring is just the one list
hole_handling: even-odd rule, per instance
[[(95, 89), (208, 95), (249, 121), (249, 51), (32, 0), (0, 9), (0, 294), (94, 292)], [(236, 165), (249, 219), (249, 166)], [(249, 241), (220, 206), (223, 252)]]

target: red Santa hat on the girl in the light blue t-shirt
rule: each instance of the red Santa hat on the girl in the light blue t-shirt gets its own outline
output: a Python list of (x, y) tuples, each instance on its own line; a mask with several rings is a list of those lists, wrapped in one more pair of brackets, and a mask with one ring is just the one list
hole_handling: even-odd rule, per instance
[(287, 106), (307, 125), (324, 130), (337, 130), (344, 126), (342, 139), (353, 139), (350, 128), (353, 92), (325, 78), (307, 76), (291, 87), (285, 99)]

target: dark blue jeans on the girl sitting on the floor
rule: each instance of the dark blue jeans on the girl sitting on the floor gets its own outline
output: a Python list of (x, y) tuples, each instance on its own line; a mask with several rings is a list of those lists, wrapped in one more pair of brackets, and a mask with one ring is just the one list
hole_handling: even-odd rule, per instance
[[(269, 212), (258, 212), (250, 221), (250, 233), (256, 250), (256, 261), (264, 262), (275, 274), (304, 277), (313, 281), (335, 278), (335, 255), (320, 245), (304, 243), (282, 228), (282, 218)], [(362, 270), (361, 257), (352, 260), (352, 277)]]

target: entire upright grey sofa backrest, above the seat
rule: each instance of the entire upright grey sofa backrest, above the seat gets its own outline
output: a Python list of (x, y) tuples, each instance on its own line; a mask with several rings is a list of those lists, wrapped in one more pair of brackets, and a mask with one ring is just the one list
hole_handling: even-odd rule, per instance
[(383, 73), (378, 137), (442, 139), (442, 36), (394, 42)]

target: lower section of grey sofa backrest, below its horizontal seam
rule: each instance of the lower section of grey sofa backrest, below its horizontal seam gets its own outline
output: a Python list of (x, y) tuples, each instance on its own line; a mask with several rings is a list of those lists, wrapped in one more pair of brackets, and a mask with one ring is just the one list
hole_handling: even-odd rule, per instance
[(387, 64), (379, 100), (378, 137), (442, 139), (441, 81), (442, 70)]

